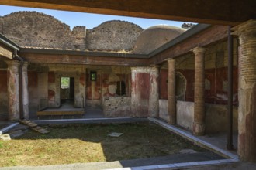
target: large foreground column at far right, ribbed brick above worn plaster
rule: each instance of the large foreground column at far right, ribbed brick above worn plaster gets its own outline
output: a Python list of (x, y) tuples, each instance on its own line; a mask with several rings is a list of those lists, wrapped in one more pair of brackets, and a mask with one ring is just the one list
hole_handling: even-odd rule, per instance
[(239, 36), (238, 155), (256, 162), (256, 20), (234, 28)]

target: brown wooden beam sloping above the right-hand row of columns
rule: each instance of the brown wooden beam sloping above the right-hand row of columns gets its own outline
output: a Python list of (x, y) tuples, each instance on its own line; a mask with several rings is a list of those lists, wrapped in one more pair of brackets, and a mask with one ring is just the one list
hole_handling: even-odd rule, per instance
[(150, 58), (150, 64), (159, 64), (166, 59), (182, 56), (185, 53), (189, 53), (191, 49), (196, 46), (209, 46), (213, 42), (218, 42), (227, 38), (227, 26), (211, 26), (209, 29), (205, 29), (199, 32), (195, 36), (185, 39), (185, 41), (178, 43), (175, 46), (171, 46), (169, 49), (164, 50), (161, 53)]

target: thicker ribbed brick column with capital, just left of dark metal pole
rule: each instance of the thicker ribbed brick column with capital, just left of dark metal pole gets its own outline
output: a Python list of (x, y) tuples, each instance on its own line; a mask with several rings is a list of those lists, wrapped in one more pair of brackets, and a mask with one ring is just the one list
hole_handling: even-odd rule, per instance
[(195, 53), (195, 105), (193, 134), (201, 136), (205, 134), (205, 61), (206, 49), (196, 47), (192, 49)]

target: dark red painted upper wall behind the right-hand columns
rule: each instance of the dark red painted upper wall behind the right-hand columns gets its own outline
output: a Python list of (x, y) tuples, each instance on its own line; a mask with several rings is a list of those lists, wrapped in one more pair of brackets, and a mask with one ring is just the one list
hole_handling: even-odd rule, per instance
[[(176, 70), (185, 76), (187, 81), (185, 101), (194, 101), (195, 70)], [(205, 90), (205, 101), (208, 104), (227, 104), (227, 67), (208, 69), (205, 78), (210, 82), (210, 89)], [(160, 73), (160, 98), (168, 99), (168, 70)], [(234, 105), (238, 105), (238, 69), (234, 66)]]

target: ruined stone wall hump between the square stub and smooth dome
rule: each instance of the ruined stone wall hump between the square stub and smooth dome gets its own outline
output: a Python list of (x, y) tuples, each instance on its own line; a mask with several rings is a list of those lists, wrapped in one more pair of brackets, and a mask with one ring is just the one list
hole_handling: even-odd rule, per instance
[(88, 50), (130, 51), (143, 29), (130, 22), (109, 21), (86, 32)]

